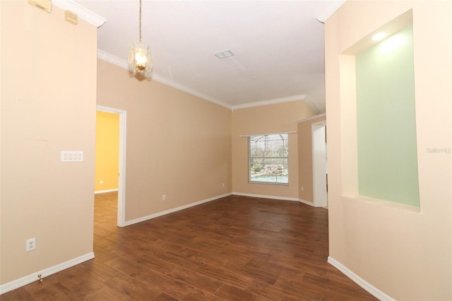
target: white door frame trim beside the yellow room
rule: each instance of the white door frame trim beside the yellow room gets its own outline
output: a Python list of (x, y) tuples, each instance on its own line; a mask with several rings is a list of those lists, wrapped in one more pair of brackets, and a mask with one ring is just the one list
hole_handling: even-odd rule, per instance
[(124, 227), (126, 224), (126, 115), (124, 110), (97, 105), (101, 112), (119, 114), (119, 175), (118, 175), (118, 214), (117, 225)]

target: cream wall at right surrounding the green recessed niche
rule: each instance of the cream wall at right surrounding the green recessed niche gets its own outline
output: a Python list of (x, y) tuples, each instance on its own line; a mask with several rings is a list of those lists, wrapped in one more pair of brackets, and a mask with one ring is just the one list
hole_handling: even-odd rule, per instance
[[(410, 9), (420, 212), (356, 196), (354, 57), (340, 55)], [(330, 257), (396, 300), (452, 300), (451, 15), (451, 1), (347, 1), (325, 24)]]

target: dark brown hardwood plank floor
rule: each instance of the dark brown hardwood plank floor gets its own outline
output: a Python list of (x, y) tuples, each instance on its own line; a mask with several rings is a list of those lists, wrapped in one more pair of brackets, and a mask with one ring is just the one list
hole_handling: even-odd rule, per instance
[(328, 211), (228, 196), (117, 228), (95, 196), (95, 259), (1, 300), (376, 300), (326, 262)]

